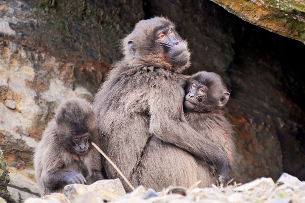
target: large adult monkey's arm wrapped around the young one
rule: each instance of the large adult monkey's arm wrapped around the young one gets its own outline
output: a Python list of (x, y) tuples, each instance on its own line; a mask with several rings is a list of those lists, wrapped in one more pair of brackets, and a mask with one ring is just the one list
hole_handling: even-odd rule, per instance
[(161, 90), (150, 98), (149, 109), (150, 132), (164, 142), (172, 143), (210, 162), (217, 168), (220, 182), (227, 183), (229, 167), (224, 151), (187, 123), (183, 116), (182, 104), (177, 104), (177, 98)]

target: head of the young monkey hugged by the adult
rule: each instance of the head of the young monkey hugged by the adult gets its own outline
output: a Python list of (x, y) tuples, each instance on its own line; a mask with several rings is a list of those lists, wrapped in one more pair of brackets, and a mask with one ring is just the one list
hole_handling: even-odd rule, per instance
[(185, 111), (211, 112), (228, 102), (230, 93), (221, 77), (212, 72), (193, 74), (185, 88)]

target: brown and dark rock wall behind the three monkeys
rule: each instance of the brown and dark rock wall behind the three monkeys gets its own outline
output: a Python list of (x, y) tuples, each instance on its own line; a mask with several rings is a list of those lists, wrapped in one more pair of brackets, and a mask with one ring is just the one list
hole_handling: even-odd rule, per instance
[(304, 44), (204, 0), (0, 1), (0, 147), (8, 165), (20, 174), (31, 169), (59, 102), (90, 100), (120, 57), (119, 40), (155, 15), (175, 21), (190, 43), (187, 74), (216, 72), (230, 89), (235, 180), (282, 172), (304, 180)]

